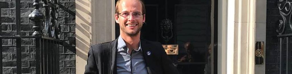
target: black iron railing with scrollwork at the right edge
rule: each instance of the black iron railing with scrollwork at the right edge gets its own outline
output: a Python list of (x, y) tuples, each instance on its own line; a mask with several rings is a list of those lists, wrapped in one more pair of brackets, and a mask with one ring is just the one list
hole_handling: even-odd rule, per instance
[(279, 74), (290, 74), (292, 71), (292, 61), (289, 60), (292, 59), (291, 48), (289, 48), (292, 40), (291, 3), (288, 0), (279, 0), (277, 4), (282, 17), (276, 28), (277, 37), (279, 38), (279, 50), (277, 50), (279, 51)]

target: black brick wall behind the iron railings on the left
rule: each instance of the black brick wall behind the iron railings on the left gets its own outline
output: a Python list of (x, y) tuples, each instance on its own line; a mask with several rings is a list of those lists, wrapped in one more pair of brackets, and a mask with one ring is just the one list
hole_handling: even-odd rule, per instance
[[(34, 10), (33, 0), (20, 0), (21, 35), (32, 35), (32, 22), (28, 15)], [(40, 9), (44, 14), (43, 3)], [(13, 36), (15, 28), (15, 0), (0, 0), (2, 35)], [(61, 40), (67, 42), (60, 48), (60, 74), (75, 74), (75, 0), (60, 0), (59, 25)], [(3, 44), (3, 74), (16, 73), (16, 40), (2, 39)], [(35, 44), (34, 39), (22, 39), (22, 73), (35, 74)]]

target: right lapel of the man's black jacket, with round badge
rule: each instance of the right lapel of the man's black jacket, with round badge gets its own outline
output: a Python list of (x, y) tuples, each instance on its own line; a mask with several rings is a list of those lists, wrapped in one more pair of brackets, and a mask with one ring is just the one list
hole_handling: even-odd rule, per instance
[(145, 63), (146, 63), (146, 66), (147, 66), (148, 74), (152, 74), (152, 71), (151, 71), (151, 68), (150, 68), (150, 64), (152, 63), (151, 62), (151, 59), (152, 59), (151, 56), (153, 56), (152, 55), (152, 51), (151, 51), (151, 47), (150, 47), (150, 45), (145, 43), (145, 40), (140, 39), (140, 41), (141, 41), (141, 48), (142, 48), (143, 56), (144, 56)]

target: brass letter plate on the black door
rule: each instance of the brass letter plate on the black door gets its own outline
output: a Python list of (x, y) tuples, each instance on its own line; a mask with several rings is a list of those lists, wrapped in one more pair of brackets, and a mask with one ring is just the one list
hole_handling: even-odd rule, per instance
[(178, 55), (178, 44), (162, 45), (167, 55)]

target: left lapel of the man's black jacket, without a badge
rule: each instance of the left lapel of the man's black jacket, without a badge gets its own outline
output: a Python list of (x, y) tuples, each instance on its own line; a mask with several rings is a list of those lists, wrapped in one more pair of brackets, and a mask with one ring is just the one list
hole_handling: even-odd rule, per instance
[(117, 55), (117, 44), (118, 39), (115, 39), (111, 42), (111, 48), (112, 48), (112, 74), (117, 74), (117, 61), (116, 61), (116, 55)]

